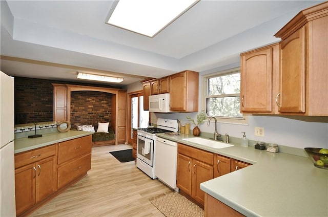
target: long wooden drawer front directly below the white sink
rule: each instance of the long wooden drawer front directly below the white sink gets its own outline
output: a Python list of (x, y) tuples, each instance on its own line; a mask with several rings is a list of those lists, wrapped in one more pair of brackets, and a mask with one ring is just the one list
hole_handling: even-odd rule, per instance
[(202, 161), (209, 165), (213, 165), (214, 154), (208, 151), (178, 143), (178, 153), (188, 157), (192, 157), (193, 159)]

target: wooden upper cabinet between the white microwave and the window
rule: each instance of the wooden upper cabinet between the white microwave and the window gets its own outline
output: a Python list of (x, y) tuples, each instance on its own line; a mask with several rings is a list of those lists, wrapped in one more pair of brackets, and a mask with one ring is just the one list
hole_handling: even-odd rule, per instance
[(170, 76), (170, 109), (198, 112), (198, 72), (183, 71)]

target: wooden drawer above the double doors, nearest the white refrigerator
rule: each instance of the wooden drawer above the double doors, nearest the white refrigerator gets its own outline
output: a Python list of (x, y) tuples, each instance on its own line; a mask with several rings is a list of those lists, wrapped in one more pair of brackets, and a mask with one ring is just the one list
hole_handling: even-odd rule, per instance
[(15, 155), (15, 168), (56, 155), (56, 144)]

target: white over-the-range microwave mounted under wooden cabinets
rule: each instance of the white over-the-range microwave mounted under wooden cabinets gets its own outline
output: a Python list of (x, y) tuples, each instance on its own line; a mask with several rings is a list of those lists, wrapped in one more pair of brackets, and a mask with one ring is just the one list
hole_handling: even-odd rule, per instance
[(149, 96), (149, 112), (171, 112), (170, 94), (157, 94)]

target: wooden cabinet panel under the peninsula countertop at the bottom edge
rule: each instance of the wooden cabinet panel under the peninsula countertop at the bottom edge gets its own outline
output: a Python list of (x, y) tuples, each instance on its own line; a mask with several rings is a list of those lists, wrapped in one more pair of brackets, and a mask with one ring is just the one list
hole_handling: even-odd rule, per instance
[(242, 217), (240, 212), (205, 193), (204, 217)]

